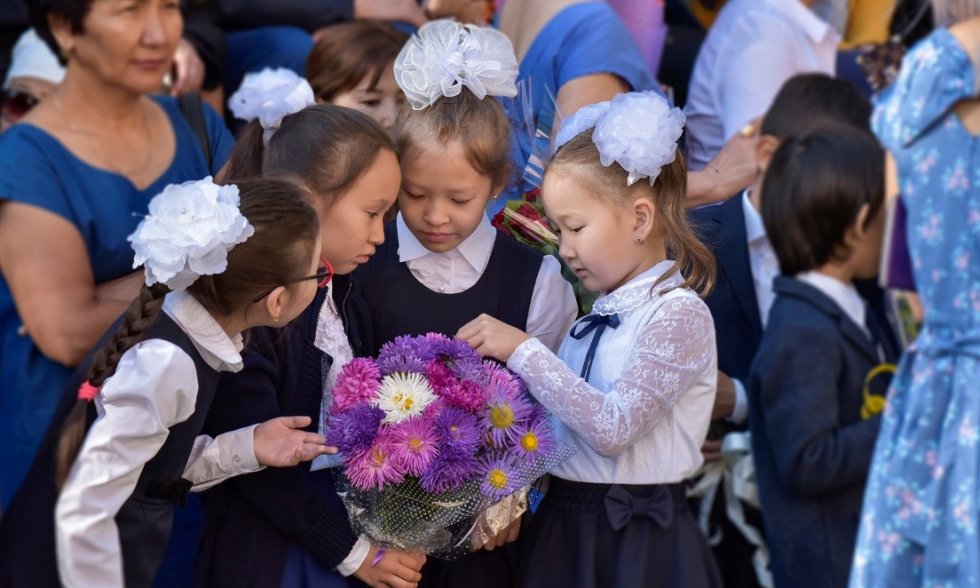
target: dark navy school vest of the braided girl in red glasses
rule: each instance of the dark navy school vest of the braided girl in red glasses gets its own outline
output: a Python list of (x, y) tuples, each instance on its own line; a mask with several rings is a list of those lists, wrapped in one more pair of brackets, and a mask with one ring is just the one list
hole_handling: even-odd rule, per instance
[[(115, 332), (116, 326), (109, 329), (96, 349)], [(170, 427), (166, 442), (143, 467), (133, 493), (116, 514), (123, 575), (129, 587), (153, 583), (170, 538), (174, 504), (182, 501), (190, 490), (190, 483), (181, 475), (218, 383), (218, 372), (204, 361), (190, 337), (165, 313), (160, 312), (148, 329), (144, 340), (148, 339), (169, 341), (191, 357), (197, 369), (198, 392), (194, 413), (186, 421)], [(61, 585), (55, 563), (54, 510), (58, 500), (55, 450), (62, 423), (75, 403), (78, 386), (91, 360), (92, 355), (65, 391), (24, 484), (11, 502), (9, 512), (0, 519), (0, 588)], [(96, 417), (94, 405), (89, 405), (87, 417), (91, 425)]]

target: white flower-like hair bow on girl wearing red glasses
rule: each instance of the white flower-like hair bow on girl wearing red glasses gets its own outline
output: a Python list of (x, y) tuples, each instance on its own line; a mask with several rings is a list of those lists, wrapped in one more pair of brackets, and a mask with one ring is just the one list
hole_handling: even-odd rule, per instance
[(150, 212), (129, 236), (146, 285), (184, 290), (199, 276), (220, 274), (228, 252), (255, 233), (238, 209), (238, 186), (203, 180), (171, 184), (150, 200)]

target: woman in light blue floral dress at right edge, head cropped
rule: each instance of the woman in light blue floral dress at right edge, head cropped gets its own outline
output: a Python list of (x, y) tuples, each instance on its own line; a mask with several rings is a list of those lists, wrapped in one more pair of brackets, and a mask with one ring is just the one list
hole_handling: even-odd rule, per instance
[(959, 24), (906, 56), (874, 119), (925, 324), (889, 392), (852, 588), (980, 585), (980, 1), (933, 7)]

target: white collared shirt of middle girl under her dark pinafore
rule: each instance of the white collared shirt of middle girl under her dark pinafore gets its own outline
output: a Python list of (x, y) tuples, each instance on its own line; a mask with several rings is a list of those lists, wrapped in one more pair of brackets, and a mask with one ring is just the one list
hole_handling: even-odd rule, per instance
[[(398, 215), (398, 260), (407, 264), (426, 288), (457, 294), (472, 288), (487, 269), (497, 229), (486, 216), (469, 237), (445, 253), (429, 251)], [(549, 349), (558, 349), (575, 322), (578, 305), (572, 286), (561, 276), (561, 264), (551, 255), (541, 261), (527, 312), (527, 333)], [(476, 318), (476, 317), (473, 317)]]

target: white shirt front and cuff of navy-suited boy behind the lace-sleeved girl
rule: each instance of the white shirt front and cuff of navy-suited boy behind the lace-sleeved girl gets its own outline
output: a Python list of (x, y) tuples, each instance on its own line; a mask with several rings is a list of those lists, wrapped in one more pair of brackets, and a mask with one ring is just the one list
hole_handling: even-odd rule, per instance
[[(749, 268), (752, 271), (752, 282), (755, 285), (755, 299), (759, 305), (759, 319), (765, 329), (769, 321), (769, 309), (776, 295), (772, 290), (772, 281), (779, 275), (779, 260), (772, 250), (772, 244), (766, 235), (766, 226), (762, 216), (752, 205), (749, 191), (742, 193), (742, 211), (745, 216), (745, 240), (749, 249)], [(728, 420), (742, 424), (749, 416), (749, 400), (745, 393), (745, 384), (733, 380), (735, 384), (735, 407)]]

